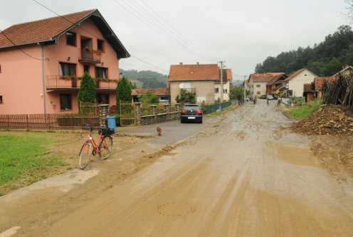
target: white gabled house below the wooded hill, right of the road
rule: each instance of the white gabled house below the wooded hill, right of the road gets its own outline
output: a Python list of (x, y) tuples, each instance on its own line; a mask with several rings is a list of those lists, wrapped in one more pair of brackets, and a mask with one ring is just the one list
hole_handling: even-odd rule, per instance
[(314, 72), (303, 68), (283, 80), (288, 97), (304, 97), (304, 84), (314, 82), (315, 77), (317, 75)]

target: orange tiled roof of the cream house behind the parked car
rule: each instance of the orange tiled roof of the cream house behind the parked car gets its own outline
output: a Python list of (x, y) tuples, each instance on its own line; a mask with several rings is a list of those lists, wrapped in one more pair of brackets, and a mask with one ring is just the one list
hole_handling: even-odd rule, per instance
[(216, 80), (219, 79), (216, 64), (171, 65), (169, 81), (174, 80)]

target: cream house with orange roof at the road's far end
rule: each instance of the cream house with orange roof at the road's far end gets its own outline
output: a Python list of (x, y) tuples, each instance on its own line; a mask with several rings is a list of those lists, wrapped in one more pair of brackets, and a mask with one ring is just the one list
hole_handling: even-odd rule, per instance
[(274, 94), (277, 82), (282, 82), (287, 76), (284, 72), (254, 73), (248, 78), (250, 93), (256, 97)]

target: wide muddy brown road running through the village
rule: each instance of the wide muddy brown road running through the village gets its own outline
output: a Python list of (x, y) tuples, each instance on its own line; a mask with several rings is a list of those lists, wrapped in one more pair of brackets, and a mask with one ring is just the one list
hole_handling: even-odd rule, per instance
[(283, 129), (291, 121), (271, 102), (228, 112), (160, 158), (133, 161), (149, 165), (134, 170), (125, 165), (125, 175), (111, 168), (122, 160), (112, 159), (110, 168), (98, 165), (100, 174), (83, 177), (73, 189), (48, 187), (0, 199), (1, 231), (12, 227), (8, 233), (14, 236), (353, 236), (352, 177), (339, 183), (322, 169), (309, 138)]

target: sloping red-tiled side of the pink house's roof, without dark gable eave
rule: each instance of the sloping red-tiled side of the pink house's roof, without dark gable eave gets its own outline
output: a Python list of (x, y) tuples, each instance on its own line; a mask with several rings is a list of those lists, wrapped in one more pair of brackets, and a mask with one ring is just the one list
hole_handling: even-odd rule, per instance
[[(16, 45), (26, 45), (31, 43), (53, 40), (56, 36), (67, 31), (75, 23), (88, 16), (93, 10), (71, 13), (63, 16), (46, 18), (39, 21), (21, 23), (6, 28), (3, 32)], [(13, 43), (0, 33), (0, 48), (13, 46)]]

